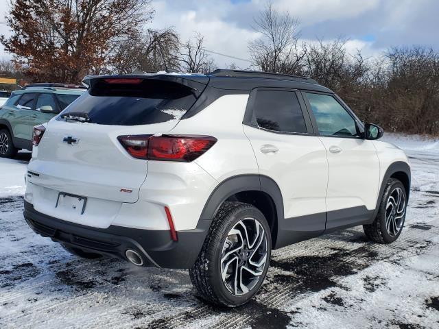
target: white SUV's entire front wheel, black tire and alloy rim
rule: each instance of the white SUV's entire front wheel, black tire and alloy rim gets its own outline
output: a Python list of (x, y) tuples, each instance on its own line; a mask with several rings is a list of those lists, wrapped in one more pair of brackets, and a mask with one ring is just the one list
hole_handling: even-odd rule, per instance
[(406, 208), (405, 187), (399, 180), (390, 178), (385, 184), (377, 217), (372, 224), (363, 226), (364, 234), (370, 241), (376, 243), (396, 241), (403, 230)]

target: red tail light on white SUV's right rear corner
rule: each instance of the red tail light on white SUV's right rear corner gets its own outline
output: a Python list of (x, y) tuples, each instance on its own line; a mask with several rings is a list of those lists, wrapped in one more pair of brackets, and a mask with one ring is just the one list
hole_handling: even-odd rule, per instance
[(180, 162), (195, 160), (217, 141), (212, 136), (196, 135), (128, 135), (118, 139), (134, 158)]

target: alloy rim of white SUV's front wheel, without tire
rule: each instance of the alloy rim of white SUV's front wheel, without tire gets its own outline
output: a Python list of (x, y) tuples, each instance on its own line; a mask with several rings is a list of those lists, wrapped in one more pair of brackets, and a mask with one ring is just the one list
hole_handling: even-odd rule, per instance
[(385, 206), (385, 229), (390, 236), (396, 236), (403, 228), (405, 217), (405, 195), (400, 187), (390, 193)]

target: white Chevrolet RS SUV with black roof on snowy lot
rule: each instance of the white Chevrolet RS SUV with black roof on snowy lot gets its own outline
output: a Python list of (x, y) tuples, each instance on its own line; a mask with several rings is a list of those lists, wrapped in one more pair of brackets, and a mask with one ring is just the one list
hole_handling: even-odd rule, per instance
[(407, 157), (304, 77), (104, 75), (34, 130), (24, 216), (84, 258), (189, 269), (206, 301), (237, 306), (272, 249), (364, 226), (395, 241)]

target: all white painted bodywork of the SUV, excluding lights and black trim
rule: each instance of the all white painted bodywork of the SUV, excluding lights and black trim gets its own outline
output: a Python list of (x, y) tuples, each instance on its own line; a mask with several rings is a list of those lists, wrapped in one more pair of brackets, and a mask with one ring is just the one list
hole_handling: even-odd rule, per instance
[[(25, 198), (39, 212), (95, 228), (169, 230), (168, 206), (176, 230), (191, 230), (209, 195), (236, 175), (272, 178), (285, 218), (294, 219), (356, 206), (375, 209), (385, 170), (392, 162), (407, 162), (403, 151), (388, 143), (274, 134), (243, 125), (247, 101), (246, 94), (225, 95), (189, 119), (154, 125), (51, 120), (34, 148), (28, 169), (40, 176), (27, 178)], [(117, 140), (126, 134), (209, 135), (217, 143), (189, 163), (139, 160)], [(78, 136), (78, 144), (63, 143), (65, 136)], [(332, 146), (342, 151), (333, 154)], [(60, 192), (88, 197), (84, 215), (56, 209)]]

